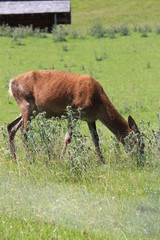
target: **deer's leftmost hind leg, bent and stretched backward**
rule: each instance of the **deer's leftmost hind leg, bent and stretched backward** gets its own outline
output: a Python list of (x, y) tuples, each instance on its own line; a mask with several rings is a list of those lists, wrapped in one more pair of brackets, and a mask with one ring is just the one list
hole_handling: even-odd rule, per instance
[(10, 156), (11, 156), (12, 162), (16, 160), (14, 137), (16, 132), (21, 126), (22, 126), (22, 115), (19, 115), (16, 119), (14, 119), (11, 123), (7, 125), (8, 139), (10, 144)]

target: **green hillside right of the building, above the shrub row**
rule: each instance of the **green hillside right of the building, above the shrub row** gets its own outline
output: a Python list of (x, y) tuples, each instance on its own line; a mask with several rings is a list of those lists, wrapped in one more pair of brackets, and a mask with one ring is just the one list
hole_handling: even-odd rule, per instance
[(155, 0), (71, 0), (72, 25), (85, 29), (94, 21), (105, 26), (127, 23), (156, 25), (160, 22), (160, 1)]

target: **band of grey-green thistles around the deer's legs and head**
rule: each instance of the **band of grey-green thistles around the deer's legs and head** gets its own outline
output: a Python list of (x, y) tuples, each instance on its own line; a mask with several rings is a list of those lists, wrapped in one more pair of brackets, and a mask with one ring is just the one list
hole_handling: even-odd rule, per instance
[[(72, 109), (68, 108), (67, 115), (72, 118)], [(37, 161), (42, 162), (46, 165), (51, 166), (52, 164), (65, 163), (66, 170), (71, 171), (75, 176), (79, 173), (85, 173), (87, 168), (92, 168), (90, 165), (93, 164), (91, 160), (92, 154), (94, 154), (93, 144), (90, 143), (90, 137), (85, 136), (81, 133), (81, 120), (73, 119), (72, 120), (72, 142), (68, 146), (67, 152), (64, 157), (61, 156), (61, 150), (63, 148), (63, 137), (67, 131), (66, 128), (66, 117), (61, 119), (51, 118), (47, 120), (45, 118), (45, 112), (36, 115), (34, 113), (32, 121), (28, 123), (28, 131), (24, 139), (27, 141), (22, 141), (20, 137), (17, 139), (18, 145), (18, 157), (20, 161), (22, 159), (27, 160), (29, 163), (36, 163)], [(112, 140), (107, 139), (103, 135), (103, 131), (98, 129), (101, 147), (103, 149), (103, 155), (109, 156), (110, 161), (106, 160), (106, 164), (113, 164), (118, 166), (125, 166), (127, 164), (137, 168), (137, 162), (139, 160), (143, 161), (143, 166), (151, 167), (156, 169), (160, 167), (160, 117), (157, 114), (158, 126), (157, 129), (152, 129), (150, 122), (141, 121), (140, 130), (142, 132), (141, 136), (145, 142), (145, 153), (140, 156), (137, 152), (136, 145), (133, 145), (133, 148), (125, 148), (113, 137)], [(131, 136), (132, 137), (132, 136)], [(1, 128), (1, 154), (4, 158), (9, 160), (9, 148), (8, 146), (8, 137), (6, 133), (6, 127)], [(126, 139), (126, 143), (127, 143)], [(23, 144), (22, 144), (23, 142)], [(19, 145), (22, 145), (21, 148)], [(108, 145), (107, 148), (105, 145)], [(22, 151), (22, 148), (24, 150)], [(98, 164), (98, 158), (95, 160), (95, 167)], [(128, 163), (126, 162), (128, 159)], [(55, 162), (54, 162), (55, 161)], [(96, 163), (97, 162), (97, 163)], [(68, 168), (69, 167), (69, 168)]]

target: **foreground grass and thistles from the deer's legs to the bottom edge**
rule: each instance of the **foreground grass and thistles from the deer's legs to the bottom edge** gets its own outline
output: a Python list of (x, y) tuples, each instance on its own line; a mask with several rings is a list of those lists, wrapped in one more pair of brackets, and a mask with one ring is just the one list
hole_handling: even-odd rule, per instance
[[(71, 109), (68, 114), (72, 114)], [(160, 119), (157, 117), (157, 129), (144, 122), (140, 126), (146, 144), (143, 167), (137, 166), (136, 152), (126, 154), (116, 139), (105, 138), (100, 129), (106, 164), (99, 166), (90, 138), (80, 132), (80, 120), (72, 121), (73, 139), (61, 157), (66, 121), (46, 120), (45, 113), (32, 119), (23, 146), (22, 139), (16, 138), (17, 164), (10, 165), (6, 131), (1, 129), (2, 239), (14, 238), (15, 234), (28, 238), (53, 234), (63, 239), (65, 228), (70, 229), (66, 235), (69, 239), (73, 236), (83, 239), (86, 234), (92, 239), (107, 236), (158, 239)], [(148, 179), (150, 172), (152, 179)], [(16, 230), (18, 226), (20, 231)]]

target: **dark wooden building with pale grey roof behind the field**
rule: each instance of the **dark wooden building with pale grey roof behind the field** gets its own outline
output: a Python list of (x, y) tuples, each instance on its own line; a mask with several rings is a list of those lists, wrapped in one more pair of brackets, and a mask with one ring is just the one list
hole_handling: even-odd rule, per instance
[(70, 0), (0, 0), (0, 25), (48, 28), (71, 23)]

